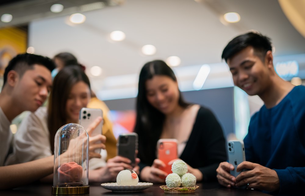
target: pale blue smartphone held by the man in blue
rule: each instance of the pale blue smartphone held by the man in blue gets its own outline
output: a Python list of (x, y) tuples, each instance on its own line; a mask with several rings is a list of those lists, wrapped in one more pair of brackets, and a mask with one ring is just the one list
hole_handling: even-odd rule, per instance
[[(229, 154), (229, 163), (234, 166), (234, 170), (230, 170), (230, 174), (233, 176), (238, 176), (242, 171), (237, 172), (237, 166), (246, 161), (245, 156), (245, 147), (244, 143), (239, 140), (229, 140), (228, 141), (228, 154)], [(246, 188), (246, 186), (238, 187), (238, 188)]]

